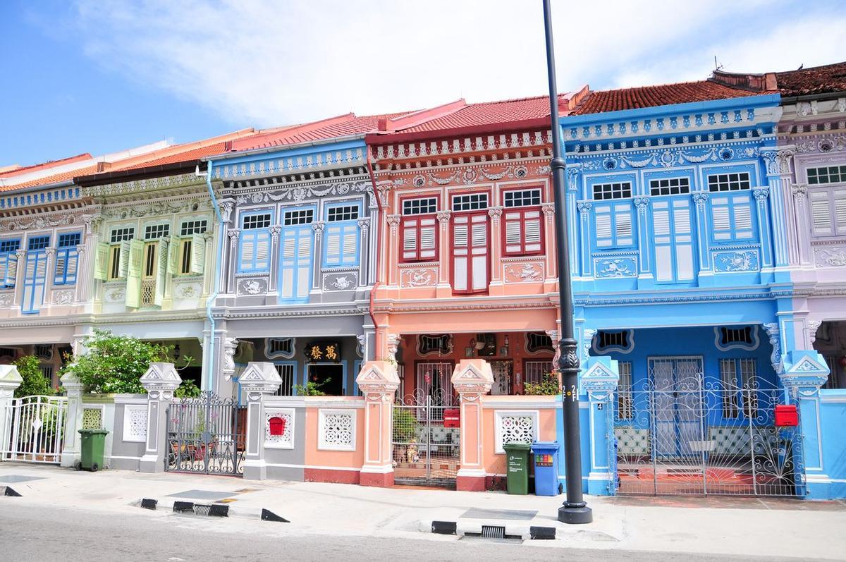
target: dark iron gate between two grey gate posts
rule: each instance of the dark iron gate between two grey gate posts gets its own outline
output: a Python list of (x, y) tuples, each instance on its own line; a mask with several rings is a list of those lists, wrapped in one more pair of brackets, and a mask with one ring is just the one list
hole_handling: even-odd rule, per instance
[(246, 407), (238, 399), (204, 392), (168, 406), (165, 470), (202, 474), (244, 473)]

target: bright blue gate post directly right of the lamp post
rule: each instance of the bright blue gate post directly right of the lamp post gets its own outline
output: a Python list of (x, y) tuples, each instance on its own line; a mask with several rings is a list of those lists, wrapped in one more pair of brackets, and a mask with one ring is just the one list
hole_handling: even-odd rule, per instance
[[(617, 459), (612, 452), (615, 439), (612, 400), (620, 378), (619, 367), (611, 357), (589, 357), (585, 367), (581, 391), (587, 393), (591, 409), (591, 471), (587, 493), (604, 496), (613, 493), (617, 472)], [(584, 442), (583, 436), (580, 438)]]

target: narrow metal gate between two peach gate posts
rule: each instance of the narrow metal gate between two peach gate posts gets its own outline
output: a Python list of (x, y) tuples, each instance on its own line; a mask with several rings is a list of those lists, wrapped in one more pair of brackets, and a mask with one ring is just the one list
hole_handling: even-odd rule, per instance
[[(461, 428), (451, 427), (459, 406), (452, 393), (418, 390), (393, 405), (393, 480), (398, 484), (455, 486)], [(446, 422), (445, 422), (446, 420)]]

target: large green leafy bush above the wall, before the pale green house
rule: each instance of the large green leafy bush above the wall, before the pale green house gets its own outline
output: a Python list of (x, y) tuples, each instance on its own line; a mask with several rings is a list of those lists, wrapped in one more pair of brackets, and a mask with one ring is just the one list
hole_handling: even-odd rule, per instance
[(96, 394), (144, 394), (140, 377), (150, 364), (168, 361), (173, 345), (153, 344), (108, 330), (94, 330), (85, 338), (84, 355), (67, 356), (61, 374), (73, 373), (85, 392)]

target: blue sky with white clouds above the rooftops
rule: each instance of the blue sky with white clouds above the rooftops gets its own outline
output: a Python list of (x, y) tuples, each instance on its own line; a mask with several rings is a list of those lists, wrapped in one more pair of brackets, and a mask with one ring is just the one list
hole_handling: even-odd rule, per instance
[[(552, 0), (559, 91), (846, 60), (846, 0)], [(547, 93), (541, 0), (0, 0), (0, 166)]]

